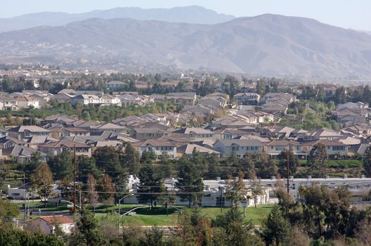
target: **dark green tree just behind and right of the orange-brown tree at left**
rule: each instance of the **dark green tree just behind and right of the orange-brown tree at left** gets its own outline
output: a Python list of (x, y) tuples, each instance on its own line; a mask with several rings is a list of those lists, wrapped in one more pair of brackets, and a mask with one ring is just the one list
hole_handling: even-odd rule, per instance
[(73, 180), (73, 157), (70, 152), (63, 151), (59, 155), (49, 157), (48, 164), (54, 179), (67, 178)]

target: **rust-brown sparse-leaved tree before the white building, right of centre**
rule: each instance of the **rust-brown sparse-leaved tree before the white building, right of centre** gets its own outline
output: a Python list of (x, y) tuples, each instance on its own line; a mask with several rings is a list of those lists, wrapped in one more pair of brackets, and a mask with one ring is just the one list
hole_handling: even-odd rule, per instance
[(244, 173), (239, 171), (238, 179), (233, 179), (232, 175), (228, 175), (226, 188), (226, 197), (234, 207), (237, 207), (239, 201), (246, 200), (247, 190), (244, 183)]

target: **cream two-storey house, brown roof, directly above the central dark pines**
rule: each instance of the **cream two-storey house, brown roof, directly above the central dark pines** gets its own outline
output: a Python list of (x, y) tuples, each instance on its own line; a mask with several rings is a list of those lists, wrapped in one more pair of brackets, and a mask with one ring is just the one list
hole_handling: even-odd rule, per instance
[(144, 151), (153, 150), (158, 157), (163, 153), (167, 153), (170, 158), (175, 158), (177, 156), (177, 145), (156, 139), (139, 141), (137, 143), (132, 143), (132, 145), (134, 148), (137, 148), (140, 155), (142, 155)]

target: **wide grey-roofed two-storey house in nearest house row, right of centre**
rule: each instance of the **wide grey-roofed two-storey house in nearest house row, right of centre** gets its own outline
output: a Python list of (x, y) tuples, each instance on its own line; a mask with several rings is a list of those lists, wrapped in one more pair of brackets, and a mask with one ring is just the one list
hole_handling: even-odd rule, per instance
[(214, 150), (223, 155), (235, 153), (237, 157), (243, 157), (248, 153), (261, 153), (263, 145), (256, 139), (221, 139), (214, 143)]

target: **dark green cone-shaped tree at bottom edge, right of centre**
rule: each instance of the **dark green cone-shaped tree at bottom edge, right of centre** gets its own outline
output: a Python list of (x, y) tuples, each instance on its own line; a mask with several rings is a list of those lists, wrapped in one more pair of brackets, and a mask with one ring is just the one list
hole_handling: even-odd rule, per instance
[(272, 208), (267, 218), (263, 219), (261, 236), (267, 245), (281, 245), (291, 231), (289, 221), (282, 216), (278, 207)]

